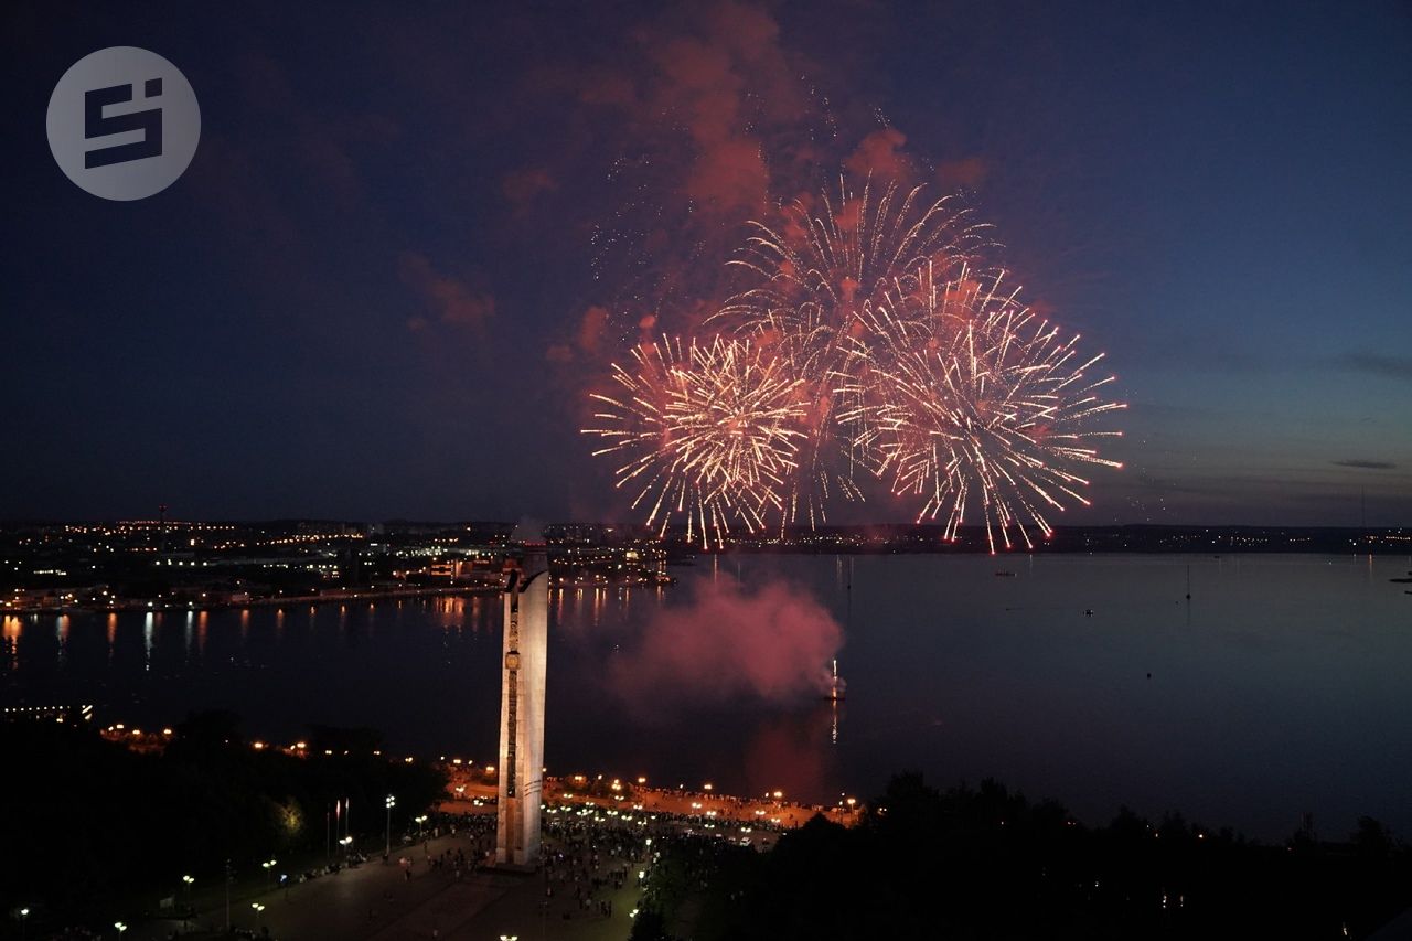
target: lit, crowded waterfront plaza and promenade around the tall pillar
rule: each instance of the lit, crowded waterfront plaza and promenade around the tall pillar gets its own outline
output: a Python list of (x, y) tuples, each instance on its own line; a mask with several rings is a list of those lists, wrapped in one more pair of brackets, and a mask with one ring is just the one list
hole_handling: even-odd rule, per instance
[[(460, 777), (460, 776), (456, 776)], [(740, 798), (712, 791), (637, 787), (624, 794), (585, 793), (585, 776), (546, 779), (544, 858), (535, 873), (510, 873), (483, 863), (494, 844), (494, 786), (472, 781), (460, 797), (443, 801), (442, 819), (463, 818), (422, 842), (369, 846), (369, 862), (288, 887), (258, 882), (233, 886), (233, 930), (281, 941), (470, 941), (518, 937), (565, 941), (621, 941), (631, 913), (651, 879), (652, 842), (682, 834), (710, 834), (767, 849), (779, 831), (802, 825), (823, 808), (792, 804), (772, 794)], [(603, 790), (602, 781), (593, 781)], [(857, 811), (839, 805), (827, 817), (850, 822)], [(439, 865), (438, 865), (439, 862)], [(274, 877), (271, 876), (271, 883)], [(124, 941), (161, 941), (174, 933), (191, 938), (225, 935), (227, 904), (220, 889), (193, 899), (188, 921), (134, 924)]]

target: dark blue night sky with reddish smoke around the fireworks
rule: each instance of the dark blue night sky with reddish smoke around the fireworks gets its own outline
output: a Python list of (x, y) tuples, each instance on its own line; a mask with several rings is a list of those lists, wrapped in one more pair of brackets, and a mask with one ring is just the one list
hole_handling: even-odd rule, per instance
[[(0, 519), (631, 519), (586, 391), (871, 168), (963, 191), (1108, 353), (1127, 468), (1055, 521), (1412, 524), (1406, 3), (0, 16)], [(109, 45), (202, 109), (138, 202), (45, 140)]]

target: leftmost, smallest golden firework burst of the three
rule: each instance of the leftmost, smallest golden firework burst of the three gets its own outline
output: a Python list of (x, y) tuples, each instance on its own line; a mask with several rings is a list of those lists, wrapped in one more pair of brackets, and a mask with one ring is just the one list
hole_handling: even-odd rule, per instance
[(599, 424), (585, 434), (604, 441), (594, 455), (624, 459), (617, 486), (635, 492), (648, 526), (665, 533), (681, 519), (709, 548), (782, 511), (805, 437), (802, 380), (743, 339), (664, 339), (633, 356), (635, 369), (613, 367), (618, 393), (593, 396)]

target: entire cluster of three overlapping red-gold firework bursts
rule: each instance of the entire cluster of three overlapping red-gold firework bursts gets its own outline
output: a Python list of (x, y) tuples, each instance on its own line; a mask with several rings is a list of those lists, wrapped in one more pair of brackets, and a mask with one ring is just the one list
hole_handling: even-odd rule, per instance
[[(1065, 500), (1087, 504), (1084, 465), (1120, 468), (1094, 442), (1094, 417), (1125, 406), (1089, 379), (1079, 336), (1034, 315), (1004, 273), (976, 267), (981, 229), (947, 199), (887, 187), (837, 206), (784, 211), (731, 261), (758, 281), (710, 318), (729, 336), (664, 341), (614, 366), (621, 393), (586, 434), (621, 454), (617, 486), (665, 533), (723, 545), (755, 531), (825, 519), (833, 495), (863, 499), (860, 470), (922, 499), (921, 520), (955, 540), (979, 506), (991, 551), (1032, 547), (1031, 528)], [(782, 235), (781, 235), (782, 232)], [(1008, 291), (1008, 292), (1005, 292)]]

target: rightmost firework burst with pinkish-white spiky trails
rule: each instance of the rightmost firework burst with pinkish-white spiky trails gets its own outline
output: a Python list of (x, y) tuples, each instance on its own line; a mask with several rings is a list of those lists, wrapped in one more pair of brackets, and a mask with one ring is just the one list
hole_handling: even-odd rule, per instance
[(918, 520), (945, 517), (955, 538), (967, 506), (979, 507), (991, 551), (1011, 533), (1032, 547), (1035, 528), (1065, 500), (1084, 506), (1084, 465), (1121, 468), (1094, 442), (1118, 431), (1091, 430), (1096, 415), (1125, 408), (1107, 401), (1113, 376), (1090, 379), (1103, 353), (1083, 359), (1079, 335), (1005, 292), (1003, 274), (936, 284), (892, 297), (868, 318), (871, 343), (857, 356), (871, 369), (870, 397), (857, 407), (863, 445), (897, 495), (923, 499)]

